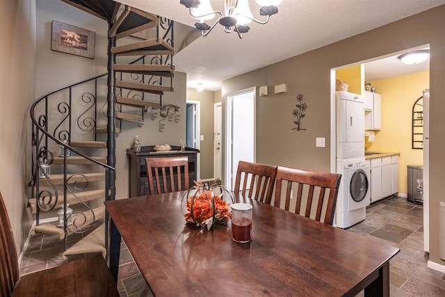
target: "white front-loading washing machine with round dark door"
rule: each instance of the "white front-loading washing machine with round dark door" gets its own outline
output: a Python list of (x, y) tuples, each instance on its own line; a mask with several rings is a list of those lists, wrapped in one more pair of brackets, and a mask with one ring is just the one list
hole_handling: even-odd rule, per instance
[(366, 218), (366, 207), (371, 202), (370, 170), (364, 157), (337, 159), (337, 172), (341, 174), (337, 196), (337, 227), (347, 228)]

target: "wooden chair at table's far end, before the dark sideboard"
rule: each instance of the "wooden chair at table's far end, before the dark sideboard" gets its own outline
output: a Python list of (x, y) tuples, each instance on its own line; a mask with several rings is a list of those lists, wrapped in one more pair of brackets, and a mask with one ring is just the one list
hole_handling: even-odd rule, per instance
[(190, 187), (188, 156), (145, 158), (145, 165), (147, 166), (148, 195), (188, 190)]

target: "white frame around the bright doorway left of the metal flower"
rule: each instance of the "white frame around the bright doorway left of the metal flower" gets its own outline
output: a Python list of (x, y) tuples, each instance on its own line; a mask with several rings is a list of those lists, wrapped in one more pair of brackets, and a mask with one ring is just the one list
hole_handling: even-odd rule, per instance
[(226, 186), (232, 185), (232, 108), (233, 97), (245, 93), (253, 93), (253, 159), (257, 161), (257, 87), (245, 88), (227, 93), (225, 96), (225, 125), (224, 125), (224, 181)]

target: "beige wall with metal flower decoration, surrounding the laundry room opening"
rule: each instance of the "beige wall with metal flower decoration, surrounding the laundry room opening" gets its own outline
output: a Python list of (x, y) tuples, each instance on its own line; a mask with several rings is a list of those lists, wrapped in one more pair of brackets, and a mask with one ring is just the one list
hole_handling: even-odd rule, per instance
[[(257, 161), (330, 171), (331, 81), (330, 70), (342, 65), (430, 44), (430, 260), (439, 259), (439, 202), (444, 201), (445, 159), (445, 6), (401, 19), (378, 29), (335, 42), (314, 51), (223, 81), (227, 93), (252, 86), (287, 84), (287, 93), (259, 97), (257, 112)], [(296, 95), (304, 95), (308, 109), (305, 131), (291, 130)], [(224, 102), (223, 102), (224, 105)], [(224, 110), (224, 108), (223, 108)], [(315, 147), (325, 137), (326, 147)]]

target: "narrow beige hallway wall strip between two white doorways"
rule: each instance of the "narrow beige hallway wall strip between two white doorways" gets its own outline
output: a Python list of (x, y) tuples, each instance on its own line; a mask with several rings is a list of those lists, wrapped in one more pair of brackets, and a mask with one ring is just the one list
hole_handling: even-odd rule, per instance
[(194, 88), (187, 88), (187, 100), (199, 101), (201, 108), (200, 134), (204, 141), (200, 143), (201, 179), (213, 177), (213, 100), (215, 92), (203, 90), (198, 92)]

